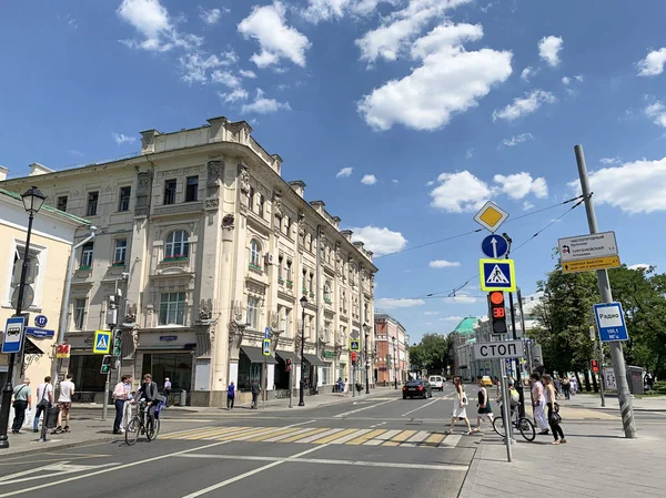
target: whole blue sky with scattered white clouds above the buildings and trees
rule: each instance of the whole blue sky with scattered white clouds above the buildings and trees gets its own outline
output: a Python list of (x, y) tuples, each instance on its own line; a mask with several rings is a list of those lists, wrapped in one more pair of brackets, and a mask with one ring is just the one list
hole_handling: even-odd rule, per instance
[[(0, 16), (0, 164), (137, 152), (139, 131), (225, 115), (374, 248), (376, 306), (414, 341), (485, 314), (492, 199), (518, 245), (571, 204), (585, 148), (601, 230), (666, 270), (666, 3), (586, 0), (10, 2)], [(664, 102), (664, 103), (663, 103)], [(524, 294), (583, 207), (515, 253)], [(401, 250), (401, 254), (382, 255)], [(434, 263), (440, 262), (440, 263)], [(447, 263), (443, 263), (447, 262)], [(433, 267), (435, 266), (435, 267)], [(427, 297), (427, 294), (438, 293)], [(444, 298), (443, 298), (444, 297)]]

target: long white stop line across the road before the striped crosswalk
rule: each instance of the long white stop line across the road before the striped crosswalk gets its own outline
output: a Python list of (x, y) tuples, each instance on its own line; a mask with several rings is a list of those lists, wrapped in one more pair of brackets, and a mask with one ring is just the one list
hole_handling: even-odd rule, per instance
[[(316, 448), (312, 448), (316, 449)], [(297, 456), (284, 458), (284, 457), (261, 457), (254, 455), (216, 455), (216, 454), (186, 454), (178, 455), (178, 458), (202, 458), (202, 459), (219, 459), (219, 460), (249, 460), (249, 461), (273, 461), (275, 464), (319, 464), (319, 465), (346, 465), (353, 467), (384, 467), (384, 468), (410, 468), (410, 469), (423, 469), (423, 470), (454, 470), (466, 472), (468, 466), (460, 464), (394, 464), (391, 461), (365, 461), (365, 460), (335, 460), (329, 458), (302, 458)], [(273, 465), (274, 467), (274, 465)], [(263, 471), (268, 466), (261, 467), (260, 469), (251, 470)], [(241, 476), (239, 476), (241, 477)], [(248, 476), (249, 477), (249, 476)], [(235, 481), (234, 481), (235, 482)], [(231, 484), (231, 482), (230, 482)], [(188, 495), (184, 498), (194, 498), (200, 495)]]

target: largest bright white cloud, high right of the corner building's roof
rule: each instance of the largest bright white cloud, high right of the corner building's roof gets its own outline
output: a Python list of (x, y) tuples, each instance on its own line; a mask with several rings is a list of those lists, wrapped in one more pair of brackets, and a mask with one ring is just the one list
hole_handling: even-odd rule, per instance
[(508, 51), (466, 51), (462, 47), (463, 41), (481, 35), (481, 26), (446, 23), (417, 40), (411, 54), (423, 64), (363, 96), (357, 109), (365, 122), (375, 130), (389, 130), (396, 123), (436, 130), (454, 113), (477, 105), (493, 84), (508, 79), (513, 57)]

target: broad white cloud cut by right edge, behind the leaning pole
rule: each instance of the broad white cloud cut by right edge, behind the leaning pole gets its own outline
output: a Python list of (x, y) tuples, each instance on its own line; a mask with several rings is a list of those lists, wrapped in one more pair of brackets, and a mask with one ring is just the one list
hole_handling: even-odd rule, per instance
[[(666, 211), (666, 157), (594, 171), (589, 184), (597, 203), (630, 214)], [(581, 190), (577, 180), (568, 185), (576, 192)]]

